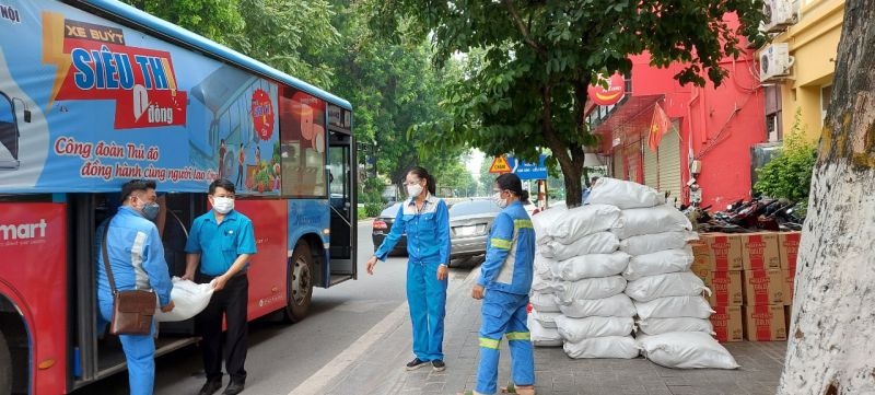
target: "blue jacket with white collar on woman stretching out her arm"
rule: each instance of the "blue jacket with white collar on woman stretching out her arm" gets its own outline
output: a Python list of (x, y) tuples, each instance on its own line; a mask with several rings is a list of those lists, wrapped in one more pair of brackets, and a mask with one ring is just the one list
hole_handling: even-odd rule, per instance
[(386, 260), (405, 232), (407, 255), (411, 263), (450, 264), (450, 210), (442, 199), (429, 194), (421, 210), (417, 210), (413, 198), (407, 199), (398, 208), (392, 231), (374, 255), (380, 260)]

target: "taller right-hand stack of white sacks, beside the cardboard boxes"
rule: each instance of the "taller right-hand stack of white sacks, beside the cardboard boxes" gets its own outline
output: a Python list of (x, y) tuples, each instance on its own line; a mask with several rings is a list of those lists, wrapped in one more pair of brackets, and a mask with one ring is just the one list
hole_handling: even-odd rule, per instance
[(630, 256), (622, 278), (628, 281), (625, 295), (634, 301), (639, 317), (641, 352), (669, 368), (738, 368), (711, 336), (708, 318), (713, 311), (702, 297), (710, 291), (690, 271), (693, 255), (687, 242), (698, 235), (689, 220), (658, 191), (612, 178), (599, 178), (587, 202), (622, 210), (610, 233), (619, 240), (617, 254)]

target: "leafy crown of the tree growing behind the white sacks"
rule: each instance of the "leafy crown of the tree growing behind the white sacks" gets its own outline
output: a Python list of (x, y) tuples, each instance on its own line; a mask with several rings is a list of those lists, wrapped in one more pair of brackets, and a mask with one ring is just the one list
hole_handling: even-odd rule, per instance
[[(453, 71), (442, 84), (445, 116), (418, 126), (421, 148), (477, 147), (488, 155), (535, 160), (552, 151), (569, 204), (581, 198), (586, 86), (597, 74), (628, 74), (629, 55), (654, 66), (681, 62), (681, 83), (719, 84), (721, 60), (738, 36), (761, 39), (761, 0), (372, 1), (370, 23), (397, 40), (428, 37), (434, 62)], [(724, 15), (735, 12), (740, 27)], [(411, 38), (412, 37), (412, 38)]]

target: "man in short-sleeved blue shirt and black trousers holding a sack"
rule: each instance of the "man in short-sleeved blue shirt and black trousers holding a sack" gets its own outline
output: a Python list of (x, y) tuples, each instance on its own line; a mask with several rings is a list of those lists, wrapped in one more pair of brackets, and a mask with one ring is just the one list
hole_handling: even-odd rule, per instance
[[(197, 316), (203, 344), (203, 370), (207, 383), (200, 395), (211, 395), (222, 387), (222, 316), (228, 323), (225, 369), (231, 382), (225, 395), (243, 392), (246, 382), (247, 303), (249, 280), (246, 270), (256, 253), (253, 222), (234, 210), (234, 184), (217, 179), (210, 184), (212, 210), (195, 219), (185, 252), (184, 279), (211, 283), (210, 304)], [(200, 270), (196, 270), (200, 265)]]

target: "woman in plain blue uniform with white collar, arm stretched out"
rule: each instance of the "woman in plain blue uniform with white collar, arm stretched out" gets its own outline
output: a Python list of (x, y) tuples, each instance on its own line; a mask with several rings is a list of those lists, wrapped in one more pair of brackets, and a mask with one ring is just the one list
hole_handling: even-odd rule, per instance
[(416, 358), (407, 370), (428, 364), (435, 371), (444, 364), (444, 315), (446, 313), (447, 265), (450, 264), (450, 210), (434, 196), (434, 177), (422, 167), (407, 173), (410, 196), (398, 209), (392, 231), (374, 256), (368, 260), (368, 274), (374, 274), (377, 259), (386, 260), (389, 252), (407, 232), (407, 304), (413, 324)]

